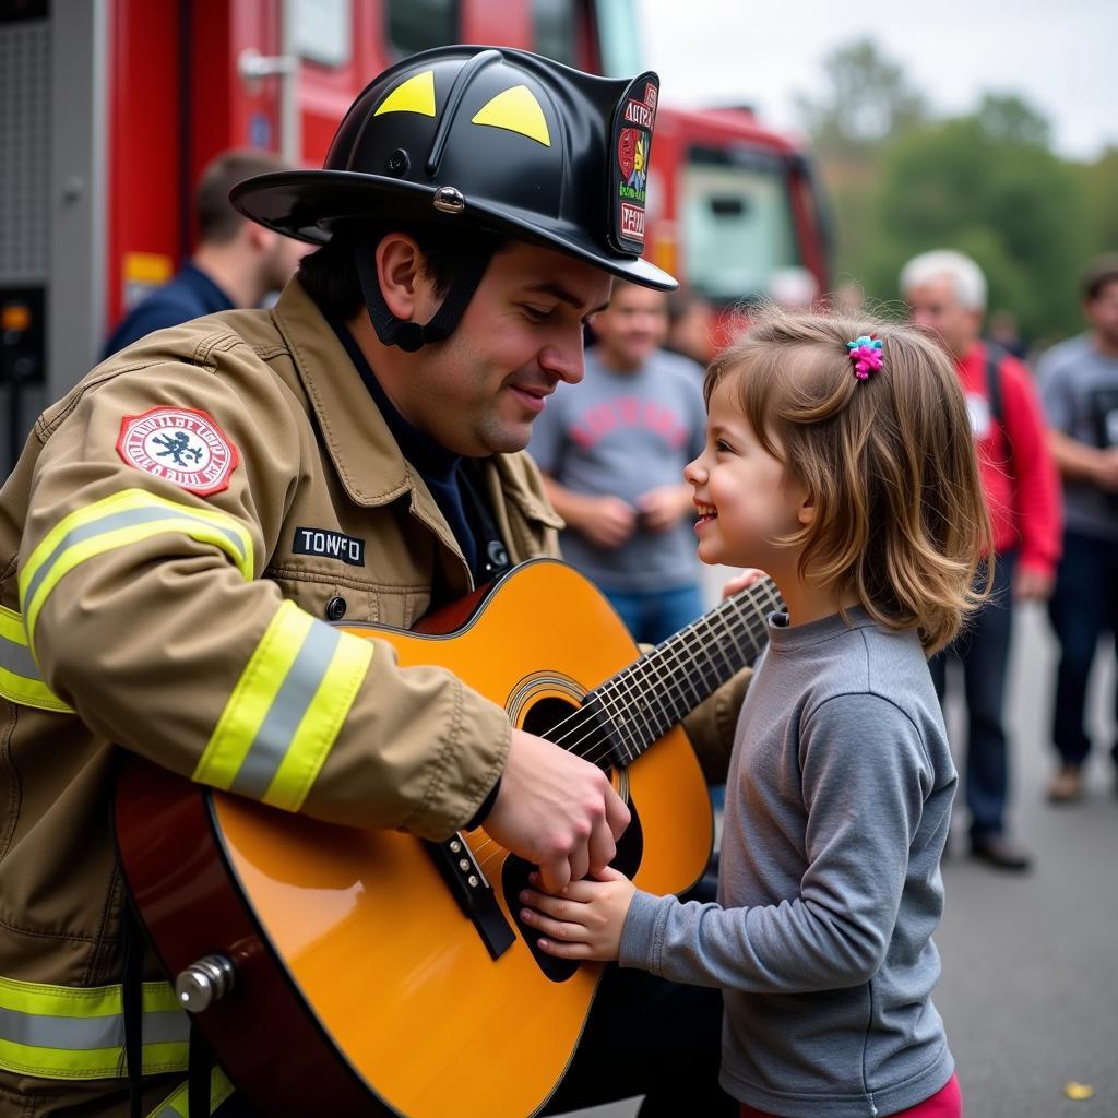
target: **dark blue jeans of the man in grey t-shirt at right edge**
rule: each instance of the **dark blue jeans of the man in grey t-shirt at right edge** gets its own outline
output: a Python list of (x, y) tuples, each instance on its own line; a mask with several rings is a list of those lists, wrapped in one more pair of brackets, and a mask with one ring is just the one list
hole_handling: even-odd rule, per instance
[[(1049, 618), (1060, 643), (1052, 741), (1064, 765), (1082, 765), (1091, 751), (1083, 727), (1091, 664), (1099, 637), (1118, 635), (1118, 543), (1064, 533)], [(1118, 693), (1115, 707), (1118, 719)], [(1110, 752), (1118, 762), (1118, 736)]]

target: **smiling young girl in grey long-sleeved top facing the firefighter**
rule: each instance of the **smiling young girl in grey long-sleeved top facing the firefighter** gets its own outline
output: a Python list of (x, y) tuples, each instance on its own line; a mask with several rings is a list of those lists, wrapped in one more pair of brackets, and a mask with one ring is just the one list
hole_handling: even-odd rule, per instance
[(743, 1116), (957, 1118), (931, 1003), (956, 774), (927, 656), (989, 548), (958, 377), (916, 330), (770, 311), (705, 391), (699, 555), (768, 571), (787, 607), (738, 722), (720, 903), (607, 870), (533, 880), (524, 918), (551, 955), (721, 987)]

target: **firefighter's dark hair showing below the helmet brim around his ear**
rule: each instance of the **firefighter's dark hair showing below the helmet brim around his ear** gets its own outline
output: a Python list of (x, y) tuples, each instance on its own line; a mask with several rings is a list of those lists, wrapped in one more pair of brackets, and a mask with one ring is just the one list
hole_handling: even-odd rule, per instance
[(303, 290), (328, 314), (342, 321), (351, 319), (364, 306), (353, 263), (354, 241), (363, 240), (371, 252), (389, 233), (406, 233), (415, 238), (426, 260), (425, 271), (435, 284), (436, 295), (445, 295), (449, 290), (463, 259), (487, 250), (494, 240), (498, 248), (503, 244), (494, 234), (472, 229), (436, 229), (399, 221), (379, 226), (339, 226), (322, 248), (299, 262), (299, 282)]

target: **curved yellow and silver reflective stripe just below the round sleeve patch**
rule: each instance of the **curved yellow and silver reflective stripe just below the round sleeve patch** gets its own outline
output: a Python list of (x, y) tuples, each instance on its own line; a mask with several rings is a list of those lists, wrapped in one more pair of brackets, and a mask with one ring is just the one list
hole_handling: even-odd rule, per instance
[(246, 579), (253, 577), (252, 537), (233, 517), (157, 496), (122, 490), (63, 518), (31, 552), (19, 575), (19, 600), (34, 647), (39, 610), (58, 580), (94, 556), (162, 532), (181, 532), (220, 548)]

